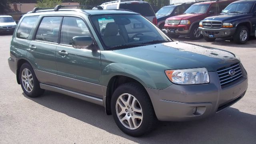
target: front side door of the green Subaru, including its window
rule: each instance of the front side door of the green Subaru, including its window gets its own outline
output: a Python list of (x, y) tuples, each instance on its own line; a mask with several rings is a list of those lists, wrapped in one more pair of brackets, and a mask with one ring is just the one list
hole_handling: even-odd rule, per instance
[(56, 64), (60, 87), (102, 98), (100, 52), (72, 46), (74, 36), (91, 36), (84, 20), (64, 17), (60, 44), (56, 48)]

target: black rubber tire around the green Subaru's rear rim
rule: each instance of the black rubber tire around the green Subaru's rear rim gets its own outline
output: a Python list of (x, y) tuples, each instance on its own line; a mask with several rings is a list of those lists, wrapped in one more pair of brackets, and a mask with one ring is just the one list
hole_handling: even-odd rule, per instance
[[(26, 89), (24, 88), (24, 84), (22, 82), (22, 72), (23, 72), (24, 69), (25, 70), (28, 69), (30, 71), (30, 73), (32, 74), (33, 88), (32, 88), (32, 90), (30, 92), (26, 91)], [(35, 97), (38, 97), (38, 96), (40, 96), (40, 95), (42, 95), (44, 93), (44, 90), (40, 88), (39, 81), (36, 78), (36, 74), (35, 74), (32, 66), (30, 64), (28, 64), (28, 63), (22, 64), (22, 66), (20, 67), (19, 79), (20, 79), (21, 88), (22, 88), (23, 92), (28, 97), (35, 98)]]

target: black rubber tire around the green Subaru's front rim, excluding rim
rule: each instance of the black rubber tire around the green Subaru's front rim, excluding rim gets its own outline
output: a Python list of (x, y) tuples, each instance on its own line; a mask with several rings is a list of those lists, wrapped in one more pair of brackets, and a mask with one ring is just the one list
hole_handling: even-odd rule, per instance
[[(121, 96), (122, 94), (129, 93), (134, 96), (138, 102), (140, 103), (142, 112), (143, 112), (143, 120), (140, 124), (140, 126), (137, 129), (131, 130), (129, 128), (126, 128), (118, 119), (118, 116), (116, 114), (116, 101), (118, 100), (118, 97)], [(154, 112), (154, 108), (152, 106), (151, 100), (145, 91), (145, 89), (140, 86), (140, 84), (137, 83), (126, 83), (122, 84), (118, 88), (116, 88), (114, 94), (112, 95), (111, 98), (111, 112), (114, 117), (114, 120), (122, 130), (122, 132), (130, 135), (130, 136), (142, 136), (148, 132), (150, 132), (153, 128), (154, 125), (157, 122), (156, 115)]]

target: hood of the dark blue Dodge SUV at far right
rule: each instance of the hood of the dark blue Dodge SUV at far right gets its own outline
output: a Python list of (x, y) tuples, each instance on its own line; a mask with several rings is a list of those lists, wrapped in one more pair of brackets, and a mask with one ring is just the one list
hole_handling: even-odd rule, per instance
[(205, 18), (204, 20), (224, 21), (224, 20), (243, 18), (244, 16), (248, 16), (248, 14), (220, 14), (218, 16), (211, 16), (211, 17)]

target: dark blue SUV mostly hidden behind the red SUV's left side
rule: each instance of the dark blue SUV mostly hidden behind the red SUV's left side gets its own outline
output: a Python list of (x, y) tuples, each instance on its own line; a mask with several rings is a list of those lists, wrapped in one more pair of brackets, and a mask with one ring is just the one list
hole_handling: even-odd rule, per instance
[(164, 6), (158, 12), (156, 12), (156, 18), (158, 22), (158, 27), (160, 29), (164, 28), (164, 22), (166, 18), (183, 14), (193, 3), (183, 3), (183, 4), (172, 4), (169, 6)]

